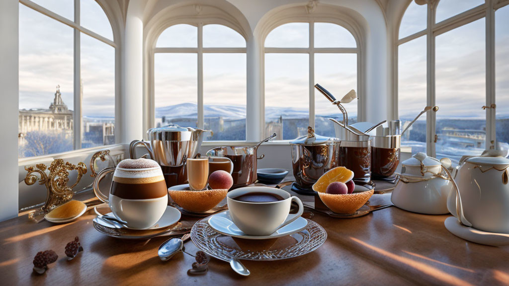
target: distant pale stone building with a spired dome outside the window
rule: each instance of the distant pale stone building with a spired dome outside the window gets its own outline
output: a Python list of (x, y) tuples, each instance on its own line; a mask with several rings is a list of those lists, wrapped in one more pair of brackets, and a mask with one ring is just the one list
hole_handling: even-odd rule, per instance
[(19, 110), (19, 145), (23, 145), (24, 135), (31, 131), (65, 133), (72, 137), (74, 112), (62, 100), (60, 85), (56, 87), (53, 102), (48, 109), (31, 108)]

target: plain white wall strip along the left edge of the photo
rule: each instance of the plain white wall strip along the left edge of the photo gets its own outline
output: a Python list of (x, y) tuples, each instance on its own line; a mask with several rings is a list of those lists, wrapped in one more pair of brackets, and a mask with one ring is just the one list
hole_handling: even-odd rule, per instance
[(18, 6), (0, 1), (0, 221), (18, 214)]

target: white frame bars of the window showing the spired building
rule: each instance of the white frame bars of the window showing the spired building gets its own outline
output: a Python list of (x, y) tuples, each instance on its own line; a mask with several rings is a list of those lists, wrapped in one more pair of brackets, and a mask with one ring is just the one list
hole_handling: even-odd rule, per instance
[[(109, 40), (95, 32), (92, 32), (88, 30), (86, 27), (82, 27), (80, 25), (80, 0), (73, 0), (74, 1), (74, 21), (71, 21), (59, 14), (56, 14), (30, 0), (19, 0), (19, 3), (29, 7), (36, 12), (39, 12), (43, 15), (46, 15), (56, 21), (59, 21), (65, 25), (68, 25), (74, 29), (74, 83), (73, 83), (73, 92), (74, 92), (74, 116), (73, 116), (73, 148), (74, 150), (81, 149), (81, 133), (82, 133), (82, 116), (81, 116), (81, 96), (80, 96), (80, 79), (81, 79), (81, 63), (80, 63), (80, 56), (81, 56), (81, 45), (80, 45), (80, 39), (81, 39), (81, 33), (86, 34), (92, 38), (95, 38), (107, 45), (110, 45), (111, 47), (115, 48), (115, 142), (116, 144), (120, 143), (120, 104), (121, 104), (121, 66), (120, 66), (120, 49), (119, 47), (119, 31), (115, 28), (115, 25), (112, 24), (112, 16), (111, 12), (109, 11), (107, 7), (107, 1), (106, 0), (96, 0), (97, 4), (101, 6), (103, 9), (106, 17), (108, 18), (108, 21), (110, 22), (111, 31), (114, 37), (114, 40)], [(51, 154), (48, 154), (51, 155)], [(25, 160), (26, 158), (22, 158)]]

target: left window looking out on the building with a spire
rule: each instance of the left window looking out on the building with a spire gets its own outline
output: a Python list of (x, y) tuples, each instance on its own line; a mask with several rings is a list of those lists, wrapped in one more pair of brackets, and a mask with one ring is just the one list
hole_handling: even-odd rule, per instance
[(20, 158), (115, 144), (113, 38), (94, 0), (20, 2)]

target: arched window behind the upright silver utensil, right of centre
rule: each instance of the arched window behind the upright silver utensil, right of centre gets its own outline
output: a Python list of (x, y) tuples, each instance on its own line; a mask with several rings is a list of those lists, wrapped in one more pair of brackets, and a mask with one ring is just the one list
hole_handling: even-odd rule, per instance
[[(265, 134), (293, 139), (312, 126), (318, 134), (334, 137), (327, 118), (343, 117), (314, 85), (340, 98), (357, 90), (359, 48), (354, 36), (336, 23), (291, 22), (274, 28), (264, 46)], [(357, 101), (345, 107), (354, 123)]]

